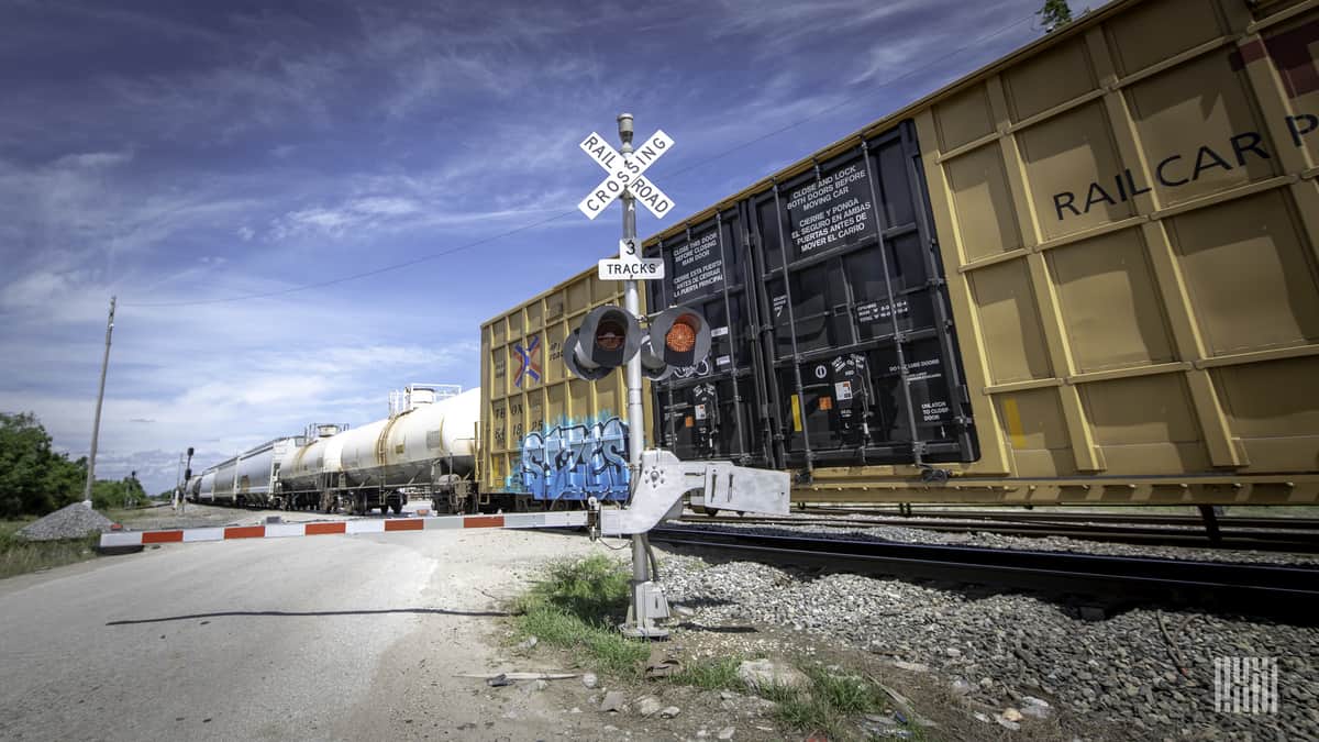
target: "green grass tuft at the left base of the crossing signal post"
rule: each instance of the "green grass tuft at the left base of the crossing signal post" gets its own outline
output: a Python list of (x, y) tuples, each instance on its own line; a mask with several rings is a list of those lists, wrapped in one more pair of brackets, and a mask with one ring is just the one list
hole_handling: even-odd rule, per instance
[(603, 555), (551, 564), (513, 603), (518, 636), (584, 651), (599, 672), (637, 676), (650, 646), (619, 632), (628, 613), (630, 570)]

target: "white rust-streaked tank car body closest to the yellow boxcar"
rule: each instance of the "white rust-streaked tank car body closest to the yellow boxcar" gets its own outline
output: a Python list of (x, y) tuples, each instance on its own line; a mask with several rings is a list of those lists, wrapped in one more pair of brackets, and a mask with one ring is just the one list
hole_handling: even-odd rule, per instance
[(430, 487), (475, 469), (480, 389), (439, 401), (409, 392), (409, 409), (339, 436), (348, 487)]

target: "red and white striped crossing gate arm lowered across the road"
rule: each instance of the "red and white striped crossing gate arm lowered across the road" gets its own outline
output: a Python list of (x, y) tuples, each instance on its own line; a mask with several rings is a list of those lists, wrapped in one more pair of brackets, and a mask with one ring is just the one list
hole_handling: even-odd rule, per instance
[(319, 523), (269, 523), (223, 528), (175, 528), (168, 531), (116, 531), (100, 535), (100, 545), (141, 547), (235, 539), (288, 539), (394, 531), (451, 531), (460, 528), (572, 528), (587, 524), (586, 511), (510, 512), (506, 515), (445, 515), (435, 518), (392, 518), (384, 520), (334, 520)]

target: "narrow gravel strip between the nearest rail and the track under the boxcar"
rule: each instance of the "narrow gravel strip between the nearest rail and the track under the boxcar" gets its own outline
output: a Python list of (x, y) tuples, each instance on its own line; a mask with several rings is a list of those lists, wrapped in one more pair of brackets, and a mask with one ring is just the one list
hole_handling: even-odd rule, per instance
[[(667, 524), (670, 527), (677, 524)], [(828, 536), (831, 539), (847, 539), (857, 541), (897, 541), (902, 544), (950, 544), (959, 547), (988, 547), (995, 549), (1030, 549), (1039, 552), (1074, 552), (1087, 555), (1112, 556), (1150, 556), (1162, 558), (1179, 558), (1190, 561), (1223, 561), (1239, 564), (1314, 564), (1319, 565), (1319, 555), (1297, 555), (1289, 552), (1254, 552), (1244, 549), (1206, 549), (1195, 547), (1149, 547), (1138, 544), (1109, 544), (1105, 541), (1087, 541), (1084, 539), (1068, 539), (1064, 536), (1004, 536), (1001, 533), (943, 533), (939, 531), (925, 531), (921, 528), (906, 528), (902, 525), (857, 525), (856, 528), (840, 528), (832, 525), (757, 525), (739, 524), (729, 520), (718, 524), (683, 523), (681, 528), (699, 528), (708, 531), (747, 529), (766, 536)]]

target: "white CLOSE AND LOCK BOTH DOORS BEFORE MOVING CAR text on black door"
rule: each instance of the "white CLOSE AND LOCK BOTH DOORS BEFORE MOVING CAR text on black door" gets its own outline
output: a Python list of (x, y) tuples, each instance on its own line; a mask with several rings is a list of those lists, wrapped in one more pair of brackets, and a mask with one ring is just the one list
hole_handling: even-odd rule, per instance
[(857, 162), (787, 194), (793, 244), (805, 255), (853, 243), (874, 234), (871, 184)]

